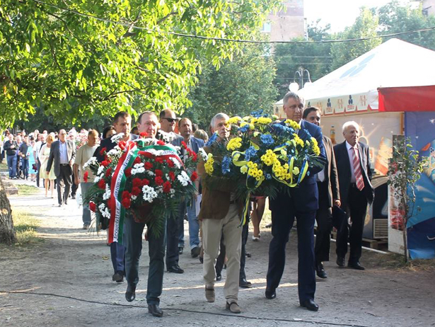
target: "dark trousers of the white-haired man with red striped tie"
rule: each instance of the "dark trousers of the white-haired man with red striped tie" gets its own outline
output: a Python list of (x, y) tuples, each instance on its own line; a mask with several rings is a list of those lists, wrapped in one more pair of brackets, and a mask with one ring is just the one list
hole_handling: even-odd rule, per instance
[(352, 225), (343, 222), (344, 226), (337, 232), (337, 256), (343, 257), (347, 253), (347, 240), (349, 239), (349, 263), (356, 263), (361, 258), (362, 234), (364, 220), (367, 213), (367, 199), (364, 190), (360, 191), (353, 184), (349, 188), (347, 205), (342, 207), (352, 220)]

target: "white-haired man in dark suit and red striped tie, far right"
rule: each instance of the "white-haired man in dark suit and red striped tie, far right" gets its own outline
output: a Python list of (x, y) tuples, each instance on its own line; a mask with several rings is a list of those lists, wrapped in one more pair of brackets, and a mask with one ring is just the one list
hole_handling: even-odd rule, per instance
[(347, 222), (344, 222), (337, 232), (337, 265), (344, 267), (349, 238), (350, 254), (347, 266), (364, 270), (359, 263), (362, 234), (367, 204), (371, 204), (374, 198), (373, 186), (370, 183), (369, 147), (358, 142), (359, 125), (356, 122), (344, 123), (343, 136), (345, 141), (334, 147), (334, 153), (337, 161), (342, 209), (347, 212), (352, 225), (349, 226)]

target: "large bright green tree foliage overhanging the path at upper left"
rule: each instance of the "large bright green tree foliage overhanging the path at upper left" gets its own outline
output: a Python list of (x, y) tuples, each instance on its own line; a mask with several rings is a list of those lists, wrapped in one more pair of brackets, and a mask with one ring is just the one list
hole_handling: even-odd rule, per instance
[(117, 110), (190, 105), (198, 54), (219, 66), (240, 45), (172, 33), (249, 39), (280, 1), (50, 3), (0, 2), (1, 127), (25, 120), (37, 107), (74, 124)]

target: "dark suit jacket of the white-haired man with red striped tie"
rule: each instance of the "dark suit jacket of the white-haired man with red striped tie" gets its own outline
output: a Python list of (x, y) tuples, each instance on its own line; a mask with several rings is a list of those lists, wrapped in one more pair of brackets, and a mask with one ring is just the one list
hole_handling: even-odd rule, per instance
[[(334, 147), (335, 161), (337, 162), (338, 180), (340, 183), (340, 200), (342, 207), (347, 207), (347, 195), (349, 194), (350, 180), (352, 178), (351, 161), (349, 160), (349, 151), (346, 147), (346, 141), (337, 144)], [(370, 156), (369, 147), (366, 144), (358, 142), (359, 164), (361, 165), (362, 176), (364, 179), (364, 194), (367, 202), (371, 204), (375, 196), (375, 190), (370, 183)]]

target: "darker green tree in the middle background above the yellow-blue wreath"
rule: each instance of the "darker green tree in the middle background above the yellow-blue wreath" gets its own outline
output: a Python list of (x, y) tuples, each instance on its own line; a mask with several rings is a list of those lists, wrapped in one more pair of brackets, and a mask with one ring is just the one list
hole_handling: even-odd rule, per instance
[[(216, 113), (245, 116), (256, 110), (272, 113), (277, 90), (272, 81), (275, 64), (263, 45), (246, 45), (219, 69), (204, 64), (197, 86), (189, 95), (192, 107), (184, 115), (207, 130)], [(204, 59), (204, 62), (205, 59)]]

